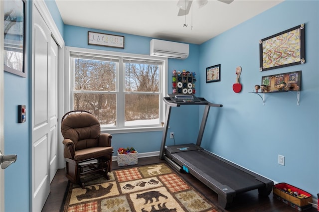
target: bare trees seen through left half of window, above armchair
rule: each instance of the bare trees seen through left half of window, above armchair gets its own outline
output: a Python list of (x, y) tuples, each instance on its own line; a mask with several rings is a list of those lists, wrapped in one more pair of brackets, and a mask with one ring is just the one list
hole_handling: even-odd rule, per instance
[(74, 59), (74, 109), (92, 112), (101, 124), (116, 123), (116, 63)]

